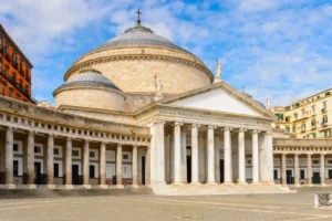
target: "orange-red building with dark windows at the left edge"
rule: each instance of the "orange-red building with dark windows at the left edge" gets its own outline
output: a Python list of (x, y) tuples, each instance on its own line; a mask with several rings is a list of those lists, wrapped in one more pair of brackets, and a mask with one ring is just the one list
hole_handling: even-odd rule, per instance
[(34, 103), (31, 97), (32, 64), (0, 24), (0, 94)]

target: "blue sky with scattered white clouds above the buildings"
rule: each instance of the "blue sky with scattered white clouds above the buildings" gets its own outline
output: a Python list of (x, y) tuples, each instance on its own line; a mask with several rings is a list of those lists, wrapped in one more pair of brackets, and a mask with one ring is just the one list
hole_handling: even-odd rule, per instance
[(0, 0), (0, 23), (52, 92), (84, 53), (142, 23), (196, 54), (235, 88), (272, 106), (332, 87), (332, 0)]

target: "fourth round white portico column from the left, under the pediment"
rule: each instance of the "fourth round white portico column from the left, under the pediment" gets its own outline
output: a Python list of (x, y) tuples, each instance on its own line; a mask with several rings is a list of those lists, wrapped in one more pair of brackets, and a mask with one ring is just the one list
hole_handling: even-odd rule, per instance
[(224, 128), (224, 185), (232, 185), (230, 128)]

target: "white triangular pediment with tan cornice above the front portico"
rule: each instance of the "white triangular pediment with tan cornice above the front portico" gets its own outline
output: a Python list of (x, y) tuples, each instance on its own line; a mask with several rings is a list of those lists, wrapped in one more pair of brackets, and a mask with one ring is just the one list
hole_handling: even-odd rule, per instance
[(259, 102), (237, 92), (226, 83), (187, 92), (165, 99), (162, 104), (253, 117), (272, 117)]

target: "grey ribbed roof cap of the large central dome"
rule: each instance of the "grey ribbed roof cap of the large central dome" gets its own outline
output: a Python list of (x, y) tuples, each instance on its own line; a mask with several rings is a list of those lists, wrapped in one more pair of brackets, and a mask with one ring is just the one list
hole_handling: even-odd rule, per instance
[(105, 49), (132, 48), (132, 46), (159, 46), (159, 48), (175, 49), (186, 53), (190, 53), (187, 50), (172, 43), (169, 40), (158, 34), (155, 34), (149, 28), (146, 28), (141, 23), (137, 23), (135, 27), (127, 29), (123, 34), (111, 39), (104, 44), (92, 50), (92, 52), (105, 50)]

